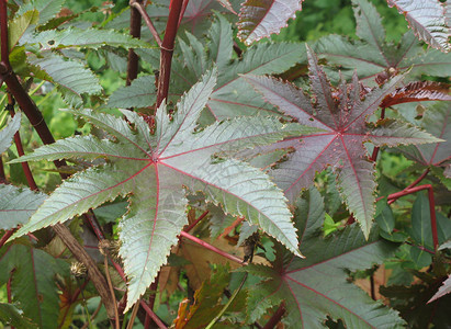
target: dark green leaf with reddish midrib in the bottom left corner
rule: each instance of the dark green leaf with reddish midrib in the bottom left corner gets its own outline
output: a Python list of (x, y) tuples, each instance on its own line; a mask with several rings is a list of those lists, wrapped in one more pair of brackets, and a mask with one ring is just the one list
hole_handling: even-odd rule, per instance
[(32, 247), (13, 245), (0, 259), (0, 282), (7, 282), (12, 275), (13, 302), (20, 304), (24, 316), (38, 328), (52, 329), (58, 326), (56, 273), (68, 275), (68, 264)]

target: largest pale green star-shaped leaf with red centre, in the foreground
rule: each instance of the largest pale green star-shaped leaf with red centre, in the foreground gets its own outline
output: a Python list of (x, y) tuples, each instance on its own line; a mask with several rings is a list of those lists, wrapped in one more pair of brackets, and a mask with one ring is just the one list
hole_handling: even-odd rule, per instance
[(301, 256), (283, 193), (261, 170), (216, 154), (271, 144), (312, 128), (257, 116), (195, 132), (215, 80), (215, 72), (207, 72), (178, 103), (172, 121), (161, 106), (155, 135), (134, 112), (123, 110), (125, 121), (89, 110), (70, 111), (104, 129), (112, 140), (63, 139), (21, 160), (101, 157), (108, 163), (66, 180), (13, 238), (64, 222), (117, 195), (128, 196), (128, 212), (120, 222), (120, 253), (129, 280), (127, 309), (153, 282), (187, 224), (187, 188), (202, 191), (234, 216), (246, 216)]

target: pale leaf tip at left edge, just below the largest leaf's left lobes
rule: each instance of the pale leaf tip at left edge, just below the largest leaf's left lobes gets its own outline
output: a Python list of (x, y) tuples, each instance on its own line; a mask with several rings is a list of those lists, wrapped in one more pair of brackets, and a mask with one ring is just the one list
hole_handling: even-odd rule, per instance
[(25, 224), (46, 197), (30, 189), (0, 184), (0, 229)]

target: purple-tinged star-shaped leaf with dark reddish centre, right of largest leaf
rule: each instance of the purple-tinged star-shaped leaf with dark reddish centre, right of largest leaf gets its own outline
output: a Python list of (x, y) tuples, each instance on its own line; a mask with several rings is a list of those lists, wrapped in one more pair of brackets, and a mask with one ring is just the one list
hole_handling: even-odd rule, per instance
[[(439, 139), (414, 126), (392, 121), (368, 126), (367, 116), (374, 113), (403, 77), (397, 76), (382, 88), (375, 88), (361, 99), (361, 88), (354, 75), (351, 84), (342, 82), (334, 90), (327, 81), (317, 58), (308, 53), (309, 77), (315, 103), (291, 83), (280, 80), (246, 76), (268, 102), (297, 122), (325, 129), (300, 138), (286, 138), (266, 150), (289, 147), (294, 149), (287, 161), (271, 172), (289, 200), (294, 201), (303, 188), (312, 184), (315, 173), (330, 166), (338, 174), (341, 195), (368, 237), (374, 215), (374, 164), (367, 159), (365, 141), (375, 145), (433, 143)], [(334, 94), (335, 93), (335, 94)]]

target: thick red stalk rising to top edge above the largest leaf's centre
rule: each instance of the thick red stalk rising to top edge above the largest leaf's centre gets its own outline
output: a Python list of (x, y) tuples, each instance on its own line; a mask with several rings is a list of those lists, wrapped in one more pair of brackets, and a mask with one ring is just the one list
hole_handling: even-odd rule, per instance
[[(188, 2), (188, 1), (187, 1)], [(157, 107), (168, 98), (169, 93), (169, 80), (171, 75), (171, 64), (173, 46), (176, 44), (176, 35), (178, 30), (179, 18), (183, 0), (172, 0), (169, 10), (169, 18), (166, 24), (165, 37), (161, 44), (160, 55), (160, 72), (158, 79), (158, 92), (157, 92)]]

